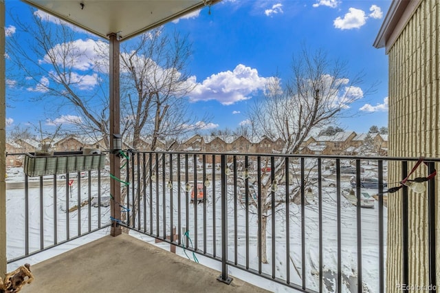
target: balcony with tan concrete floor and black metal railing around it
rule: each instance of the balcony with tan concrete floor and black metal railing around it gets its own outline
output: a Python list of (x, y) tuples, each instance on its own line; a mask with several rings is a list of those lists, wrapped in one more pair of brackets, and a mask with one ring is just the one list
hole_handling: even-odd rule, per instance
[[(403, 198), (401, 258), (409, 272), (409, 188), (384, 178), (397, 169), (408, 177), (415, 158), (142, 151), (121, 156), (120, 177), (104, 170), (74, 178), (23, 175), (23, 189), (12, 188), (21, 183), (8, 178), (10, 268), (80, 241), (78, 248), (42, 263), (28, 261), (36, 280), (24, 292), (44, 292), (39, 286), (48, 284), (54, 287), (47, 292), (120, 292), (121, 285), (145, 292), (147, 283), (157, 286), (155, 292), (186, 285), (190, 292), (207, 286), (210, 292), (263, 292), (243, 281), (271, 281), (271, 291), (385, 292), (384, 191), (393, 187)], [(424, 161), (428, 173), (438, 161)], [(364, 186), (365, 178), (375, 183)], [(120, 183), (120, 198), (110, 195), (111, 180)], [(428, 236), (434, 237), (434, 180), (426, 186)], [(129, 235), (82, 245), (83, 237), (108, 234), (111, 227)], [(180, 256), (137, 238), (155, 239)], [(435, 276), (436, 244), (427, 242)], [(87, 290), (94, 285), (102, 291)]]

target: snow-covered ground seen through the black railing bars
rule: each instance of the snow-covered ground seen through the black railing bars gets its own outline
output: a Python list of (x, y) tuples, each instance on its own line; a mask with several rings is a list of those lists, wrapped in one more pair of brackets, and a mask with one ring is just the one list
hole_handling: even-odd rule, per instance
[[(18, 178), (18, 177), (17, 177)], [(11, 178), (10, 178), (11, 180)], [(86, 179), (87, 180), (87, 179)], [(17, 179), (19, 181), (19, 179)], [(54, 201), (54, 188), (52, 186), (45, 186), (43, 190), (43, 206), (40, 206), (39, 188), (30, 188), (30, 215), (29, 215), (29, 231), (30, 231), (30, 252), (38, 250), (41, 246), (40, 243), (40, 217), (44, 219), (43, 224), (43, 238), (44, 245), (50, 246), (54, 243), (54, 213), (57, 214), (56, 221), (56, 234), (57, 241), (63, 241), (66, 239), (67, 235), (67, 220), (69, 221), (69, 237), (76, 237), (78, 235), (78, 228), (82, 232), (86, 232), (89, 229), (89, 216), (88, 211), (91, 212), (91, 229), (98, 227), (98, 208), (89, 207), (89, 205), (83, 206), (78, 210), (74, 210), (68, 213), (65, 212), (66, 200), (69, 201), (69, 207), (72, 207), (78, 202), (83, 202), (89, 197), (89, 189), (85, 182), (82, 184), (80, 190), (80, 200), (78, 201), (78, 190), (76, 186), (72, 190), (72, 198), (66, 196), (65, 185), (58, 184), (56, 190), (56, 201)], [(343, 185), (347, 185), (348, 182), (343, 182)], [(48, 184), (49, 185), (49, 184)], [(344, 185), (344, 186), (345, 186)], [(203, 225), (206, 225), (206, 252), (208, 254), (213, 254), (214, 248), (216, 250), (217, 256), (221, 255), (221, 200), (220, 195), (220, 183), (216, 182), (216, 192), (215, 198), (212, 198), (212, 186), (208, 187), (207, 197), (208, 200), (205, 204), (198, 204), (197, 208), (194, 205), (190, 205), (188, 208), (188, 227), (186, 227), (186, 197), (184, 191), (181, 193), (181, 227), (186, 227), (188, 229), (188, 236), (192, 241), (192, 247), (197, 246), (199, 250), (204, 249), (205, 242), (203, 241)], [(102, 187), (105, 194), (105, 187)], [(162, 191), (162, 185), (159, 186), (157, 192), (155, 190), (155, 184), (152, 186), (153, 189), (153, 233), (156, 232), (157, 222), (156, 219), (159, 218), (159, 235), (162, 235), (163, 230), (163, 219), (166, 221), (166, 231), (167, 234), (170, 232), (172, 226), (178, 226), (178, 205), (177, 205), (177, 187), (173, 186), (173, 207), (170, 206), (170, 191), (165, 188), (165, 213), (163, 206), (164, 195)], [(97, 186), (92, 183), (91, 185), (91, 196), (96, 195)], [(325, 286), (324, 292), (334, 292), (336, 290), (336, 276), (337, 276), (337, 208), (336, 208), (336, 188), (325, 187), (325, 192), (323, 193), (322, 200), (322, 232), (323, 232), (323, 263), (322, 268), (324, 271)], [(369, 193), (374, 193), (374, 190), (368, 190)], [(235, 252), (237, 254), (237, 263), (239, 265), (246, 264), (246, 243), (245, 243), (245, 207), (241, 204), (237, 205), (236, 210), (234, 210), (234, 202), (232, 200), (233, 192), (232, 189), (228, 190), (228, 259), (234, 261)], [(8, 221), (8, 259), (13, 259), (22, 255), (25, 251), (25, 210), (24, 210), (24, 191), (23, 189), (8, 189), (7, 195), (7, 221)], [(147, 223), (146, 227), (149, 232), (150, 222), (149, 222), (149, 198), (147, 198)], [(355, 282), (357, 282), (358, 272), (357, 272), (357, 226), (356, 226), (356, 207), (350, 204), (344, 197), (341, 198), (341, 227), (342, 227), (342, 274), (343, 274), (343, 287), (342, 292), (354, 292)], [(214, 205), (214, 207), (213, 207)], [(157, 209), (158, 208), (158, 209)], [(203, 213), (206, 208), (206, 219), (203, 219)], [(290, 215), (288, 217), (290, 229), (289, 229), (289, 259), (286, 259), (286, 215), (284, 208), (276, 213), (276, 225), (275, 230), (272, 230), (272, 219), (269, 218), (267, 223), (267, 257), (269, 263), (262, 265), (262, 270), (265, 274), (272, 275), (272, 263), (275, 262), (275, 274), (279, 279), (286, 279), (287, 275), (287, 265), (290, 268), (290, 281), (298, 285), (302, 284), (301, 267), (302, 267), (302, 247), (301, 247), (301, 221), (300, 221), (300, 206), (296, 204), (290, 204)], [(43, 214), (41, 214), (41, 210)], [(141, 208), (143, 212), (143, 208)], [(195, 213), (197, 210), (197, 221), (195, 221)], [(252, 210), (252, 208), (250, 208)], [(375, 208), (366, 209), (362, 208), (362, 280), (366, 288), (369, 291), (365, 292), (378, 292), (378, 268), (379, 268), (379, 244), (378, 244), (378, 206), (375, 202)], [(213, 217), (213, 212), (215, 212), (215, 217)], [(102, 226), (104, 224), (110, 223), (110, 213), (109, 208), (102, 207), (100, 209)], [(170, 216), (173, 215), (173, 223), (170, 223)], [(386, 229), (386, 208), (384, 208), (384, 223)], [(257, 216), (254, 213), (249, 213), (249, 265), (250, 268), (258, 270), (259, 259), (257, 257)], [(215, 224), (214, 224), (215, 219)], [(236, 219), (237, 229), (234, 229), (234, 221)], [(79, 223), (79, 224), (78, 224)], [(142, 227), (144, 223), (142, 221)], [(212, 236), (216, 234), (215, 238)], [(305, 207), (305, 268), (306, 268), (306, 285), (307, 288), (318, 291), (319, 288), (319, 238), (318, 238), (318, 203), (317, 198), (312, 204)], [(72, 242), (66, 243), (63, 246), (58, 246), (51, 250), (42, 252), (41, 254), (36, 254), (30, 259), (26, 260), (28, 262), (36, 263), (42, 259), (51, 257), (54, 254), (61, 253), (67, 249), (74, 248), (87, 241), (92, 241), (96, 238), (102, 237), (109, 233), (109, 228), (100, 230), (99, 232), (93, 233), (88, 237), (81, 237)], [(195, 237), (197, 233), (197, 237)], [(147, 237), (142, 234), (137, 234), (132, 232), (133, 236), (140, 237), (141, 239), (146, 239), (146, 241), (153, 242), (151, 237)], [(234, 237), (236, 235), (237, 243), (235, 250)], [(384, 232), (386, 235), (386, 230)], [(275, 247), (275, 259), (272, 259), (272, 237), (276, 238)], [(197, 238), (197, 241), (195, 239)], [(385, 241), (386, 243), (386, 241)], [(158, 243), (158, 246), (168, 249), (168, 244)], [(192, 254), (188, 253), (188, 250), (179, 248), (177, 250), (178, 254), (182, 257), (188, 257), (193, 259)], [(203, 265), (211, 266), (220, 270), (220, 264), (218, 261), (209, 259), (208, 257), (202, 257), (199, 254), (197, 259)], [(21, 265), (23, 261), (17, 262), (17, 264), (12, 263), (8, 267), (8, 270), (13, 270), (16, 266)], [(249, 281), (250, 283), (256, 283), (261, 287), (266, 287), (268, 290), (274, 292), (292, 292), (290, 287), (279, 285), (277, 283), (268, 282), (266, 279), (261, 279), (259, 276), (254, 274), (247, 274), (232, 266), (228, 267), (231, 274)], [(246, 275), (244, 277), (244, 275)]]

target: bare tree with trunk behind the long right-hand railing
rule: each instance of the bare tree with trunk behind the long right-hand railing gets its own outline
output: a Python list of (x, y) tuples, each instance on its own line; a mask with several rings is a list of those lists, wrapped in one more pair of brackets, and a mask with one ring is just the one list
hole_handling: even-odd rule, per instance
[[(362, 98), (364, 91), (359, 85), (362, 76), (348, 78), (347, 63), (331, 62), (325, 52), (309, 52), (305, 47), (292, 59), (292, 76), (285, 86), (280, 78), (272, 78), (267, 84), (264, 98), (258, 100), (248, 112), (248, 118), (256, 128), (256, 133), (284, 142), (282, 153), (298, 153), (305, 138), (318, 128), (336, 120), (344, 109)], [(263, 166), (263, 170), (269, 170)], [(263, 263), (267, 263), (266, 233), (267, 220), (272, 210), (278, 210), (281, 201), (272, 208), (272, 197), (276, 195), (276, 184), (285, 176), (285, 161), (276, 159), (270, 166), (271, 172), (262, 172), (261, 182), (261, 235)], [(298, 201), (301, 180), (295, 182), (285, 201)], [(251, 204), (256, 204), (251, 202)]]

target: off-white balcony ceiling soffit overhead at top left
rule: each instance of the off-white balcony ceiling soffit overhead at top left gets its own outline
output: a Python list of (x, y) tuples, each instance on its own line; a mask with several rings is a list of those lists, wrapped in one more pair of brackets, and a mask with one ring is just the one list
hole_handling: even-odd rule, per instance
[(22, 0), (47, 13), (108, 39), (151, 30), (221, 0)]

